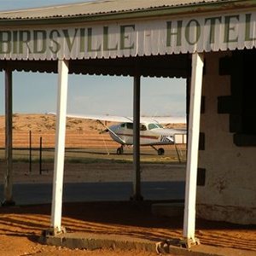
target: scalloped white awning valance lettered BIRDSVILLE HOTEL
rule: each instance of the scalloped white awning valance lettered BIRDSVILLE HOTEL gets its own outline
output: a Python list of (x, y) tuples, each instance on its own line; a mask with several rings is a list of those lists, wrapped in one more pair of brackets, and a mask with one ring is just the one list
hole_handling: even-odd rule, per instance
[(0, 29), (0, 60), (57, 60), (252, 49), (256, 12), (94, 26)]

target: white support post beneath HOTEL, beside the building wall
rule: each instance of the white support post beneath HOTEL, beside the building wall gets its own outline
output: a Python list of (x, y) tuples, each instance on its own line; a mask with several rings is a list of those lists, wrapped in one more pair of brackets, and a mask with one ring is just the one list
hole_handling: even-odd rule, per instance
[(187, 240), (189, 247), (191, 244), (195, 244), (196, 242), (195, 203), (203, 66), (203, 55), (198, 53), (193, 54), (189, 105), (189, 140), (186, 167), (186, 192), (183, 219), (183, 236)]

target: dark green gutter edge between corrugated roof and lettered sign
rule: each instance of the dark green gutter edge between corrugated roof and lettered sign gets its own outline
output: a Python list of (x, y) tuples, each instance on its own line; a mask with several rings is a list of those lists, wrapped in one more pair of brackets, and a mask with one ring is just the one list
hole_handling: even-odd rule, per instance
[[(26, 19), (8, 19), (0, 18), (0, 26), (27, 26), (27, 25), (61, 25), (75, 24), (84, 22), (110, 21), (110, 20), (130, 20), (154, 18), (167, 15), (198, 15), (199, 13), (210, 13), (216, 11), (229, 11), (233, 9), (256, 8), (255, 0), (234, 0), (212, 3), (195, 3), (193, 5), (157, 7), (149, 9), (136, 9), (129, 11), (111, 12), (92, 15), (70, 15), (70, 16), (52, 16), (45, 18), (26, 18)], [(17, 25), (17, 21), (19, 25)]]

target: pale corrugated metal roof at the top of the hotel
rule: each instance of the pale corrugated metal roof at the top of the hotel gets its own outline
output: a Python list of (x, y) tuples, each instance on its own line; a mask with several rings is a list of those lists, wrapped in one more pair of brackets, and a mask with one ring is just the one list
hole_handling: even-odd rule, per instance
[(182, 7), (200, 3), (234, 2), (234, 0), (100, 0), (70, 3), (36, 9), (21, 9), (0, 12), (0, 20), (45, 19), (80, 15), (114, 14), (165, 7)]

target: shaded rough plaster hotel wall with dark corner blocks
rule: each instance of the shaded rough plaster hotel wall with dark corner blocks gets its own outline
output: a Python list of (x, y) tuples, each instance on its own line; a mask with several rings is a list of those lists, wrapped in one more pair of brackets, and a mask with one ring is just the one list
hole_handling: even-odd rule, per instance
[(199, 152), (198, 217), (237, 224), (256, 224), (256, 147), (238, 147), (230, 132), (230, 114), (218, 113), (218, 97), (230, 96), (230, 76), (219, 75), (219, 60), (229, 53), (206, 55), (204, 111)]

